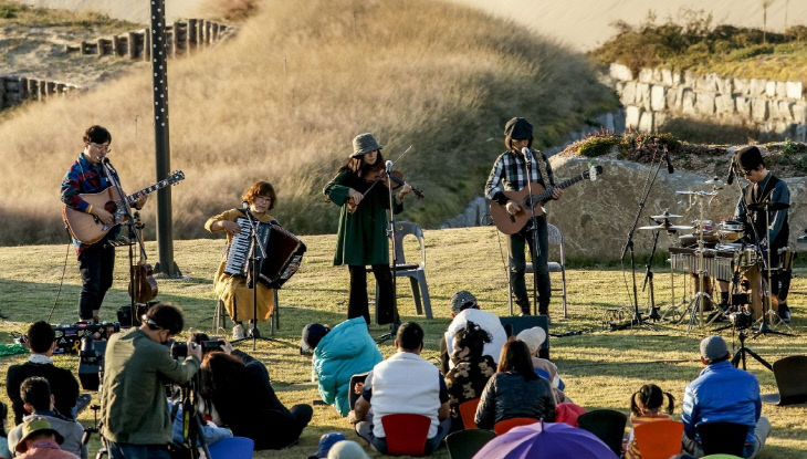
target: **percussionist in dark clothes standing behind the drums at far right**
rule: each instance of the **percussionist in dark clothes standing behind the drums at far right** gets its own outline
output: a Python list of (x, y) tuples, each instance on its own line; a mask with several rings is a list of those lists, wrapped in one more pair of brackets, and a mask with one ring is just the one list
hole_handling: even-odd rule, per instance
[[(737, 220), (745, 222), (745, 234), (750, 242), (759, 242), (765, 250), (767, 246), (771, 247), (771, 294), (775, 295), (779, 317), (789, 322), (787, 292), (790, 288), (792, 265), (785, 264), (792, 264), (792, 259), (786, 257), (786, 250), (784, 253), (779, 253), (779, 250), (787, 248), (790, 233), (787, 223), (790, 191), (784, 180), (767, 170), (758, 147), (748, 146), (738, 149), (734, 160), (738, 171), (750, 181), (743, 188), (734, 215)], [(764, 208), (756, 206), (764, 202), (769, 205), (767, 218)], [(771, 226), (766, 227), (768, 221)], [(787, 259), (787, 263), (782, 263), (783, 259)]]

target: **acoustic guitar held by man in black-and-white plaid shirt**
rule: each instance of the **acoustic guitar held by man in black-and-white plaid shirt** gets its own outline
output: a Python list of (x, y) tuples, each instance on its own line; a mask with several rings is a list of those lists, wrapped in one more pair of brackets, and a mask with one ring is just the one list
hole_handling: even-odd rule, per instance
[[(548, 189), (544, 189), (543, 186), (536, 182), (531, 184), (533, 190), (532, 201), (535, 205), (535, 217), (544, 215), (543, 205), (552, 198), (552, 192), (555, 189), (567, 188), (580, 180), (588, 179), (594, 181), (597, 179), (598, 174), (602, 174), (602, 166), (591, 166), (591, 168), (585, 173), (568, 180), (564, 180)], [(504, 191), (504, 196), (518, 204), (518, 206), (521, 206), (521, 211), (512, 216), (507, 212), (505, 206), (500, 205), (496, 201), (491, 201), (491, 218), (493, 218), (493, 223), (500, 231), (505, 234), (515, 234), (521, 231), (524, 226), (526, 226), (531, 218), (533, 218), (533, 213), (530, 211), (530, 188), (524, 187), (518, 191)]]

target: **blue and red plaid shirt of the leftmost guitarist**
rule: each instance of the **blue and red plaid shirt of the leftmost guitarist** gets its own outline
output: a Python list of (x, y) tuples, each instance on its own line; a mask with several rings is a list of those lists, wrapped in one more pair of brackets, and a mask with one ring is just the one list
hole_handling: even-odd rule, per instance
[[(115, 180), (118, 180), (117, 175)], [(118, 180), (119, 182), (119, 180)], [(99, 192), (108, 188), (112, 184), (104, 174), (104, 167), (99, 164), (93, 164), (83, 153), (78, 154), (78, 158), (67, 169), (67, 174), (62, 179), (62, 202), (82, 212), (86, 212), (90, 204), (78, 196), (85, 192)], [(109, 233), (112, 239), (117, 234), (119, 229), (113, 229)], [(73, 239), (73, 238), (71, 238)], [(106, 238), (101, 241), (105, 241)], [(99, 242), (101, 242), (99, 241)], [(81, 254), (82, 250), (90, 244), (81, 243), (73, 239), (76, 254)]]

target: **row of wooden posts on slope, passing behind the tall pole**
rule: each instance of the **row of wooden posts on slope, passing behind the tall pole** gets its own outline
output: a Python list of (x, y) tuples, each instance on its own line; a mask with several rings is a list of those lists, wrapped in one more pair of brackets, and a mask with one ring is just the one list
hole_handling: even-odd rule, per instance
[[(235, 28), (206, 19), (188, 19), (166, 25), (166, 52), (168, 58), (192, 53), (232, 36)], [(116, 55), (132, 60), (148, 61), (151, 58), (151, 31), (140, 29), (114, 36), (102, 36), (81, 44), (69, 44), (65, 52), (81, 54)]]

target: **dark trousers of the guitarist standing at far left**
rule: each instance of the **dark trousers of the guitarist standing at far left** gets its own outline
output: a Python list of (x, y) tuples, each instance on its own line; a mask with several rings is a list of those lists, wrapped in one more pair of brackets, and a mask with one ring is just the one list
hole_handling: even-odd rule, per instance
[(106, 239), (82, 250), (78, 255), (82, 291), (78, 296), (78, 319), (93, 319), (93, 311), (101, 309), (106, 291), (112, 286), (115, 269), (115, 248)]

